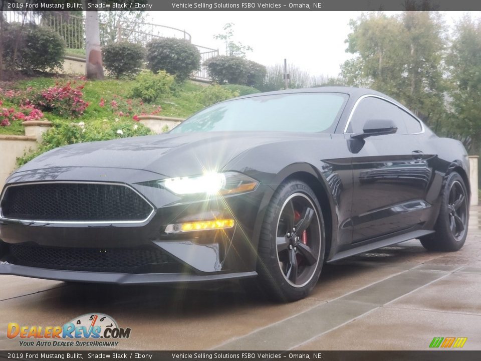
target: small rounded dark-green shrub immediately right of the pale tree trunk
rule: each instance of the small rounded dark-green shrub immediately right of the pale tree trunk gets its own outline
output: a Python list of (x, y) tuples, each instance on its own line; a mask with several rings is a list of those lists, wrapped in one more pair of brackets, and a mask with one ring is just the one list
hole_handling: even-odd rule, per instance
[(144, 57), (145, 49), (140, 44), (119, 42), (102, 48), (103, 63), (117, 79), (138, 74)]

